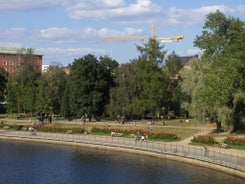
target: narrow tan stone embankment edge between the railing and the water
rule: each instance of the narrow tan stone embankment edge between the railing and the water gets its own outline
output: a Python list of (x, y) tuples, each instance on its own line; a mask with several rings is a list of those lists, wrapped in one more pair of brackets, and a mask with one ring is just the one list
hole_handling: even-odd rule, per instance
[(3, 137), (3, 136), (0, 136), (0, 140), (33, 142), (33, 143), (65, 145), (65, 146), (75, 146), (75, 147), (88, 147), (88, 148), (93, 148), (93, 149), (104, 149), (104, 150), (113, 150), (113, 151), (120, 151), (120, 152), (125, 152), (125, 153), (132, 153), (132, 154), (141, 154), (141, 155), (146, 155), (146, 156), (151, 156), (151, 157), (165, 158), (168, 160), (178, 161), (178, 162), (187, 163), (191, 165), (197, 165), (200, 167), (217, 170), (223, 173), (231, 174), (233, 176), (237, 176), (237, 177), (245, 179), (245, 172), (231, 169), (225, 166), (220, 166), (220, 165), (216, 165), (213, 163), (191, 159), (191, 158), (186, 158), (186, 157), (181, 157), (181, 156), (159, 154), (159, 153), (153, 153), (150, 151), (143, 151), (143, 150), (128, 149), (128, 148), (122, 148), (120, 146), (113, 147), (113, 146), (108, 146), (108, 145), (95, 145), (95, 144), (86, 144), (86, 143), (77, 143), (77, 142), (68, 142), (68, 141), (54, 141), (54, 140), (45, 140), (45, 139), (31, 139), (31, 138)]

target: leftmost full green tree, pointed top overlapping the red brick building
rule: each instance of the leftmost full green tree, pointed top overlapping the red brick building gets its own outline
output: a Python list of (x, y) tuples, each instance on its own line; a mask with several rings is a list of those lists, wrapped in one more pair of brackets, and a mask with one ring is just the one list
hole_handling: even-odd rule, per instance
[(9, 76), (7, 102), (9, 112), (35, 111), (37, 80), (41, 76), (35, 56), (29, 49), (22, 55), (18, 71)]

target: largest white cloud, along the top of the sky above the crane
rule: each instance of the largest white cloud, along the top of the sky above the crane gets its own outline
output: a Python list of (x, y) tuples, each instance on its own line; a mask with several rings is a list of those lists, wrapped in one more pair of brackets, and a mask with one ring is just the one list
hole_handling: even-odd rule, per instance
[[(202, 6), (195, 9), (164, 8), (152, 0), (65, 0), (70, 17), (77, 20), (102, 20), (121, 24), (196, 25), (203, 24), (206, 15), (219, 10), (230, 15), (235, 10), (224, 5)], [(244, 10), (243, 6), (239, 7)]]

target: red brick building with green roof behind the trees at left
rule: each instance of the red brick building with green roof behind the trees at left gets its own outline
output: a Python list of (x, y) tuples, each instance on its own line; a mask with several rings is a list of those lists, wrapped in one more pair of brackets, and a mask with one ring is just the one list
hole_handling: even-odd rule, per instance
[(15, 73), (23, 63), (23, 56), (31, 52), (33, 62), (38, 71), (42, 72), (42, 56), (40, 52), (30, 48), (10, 48), (0, 46), (0, 68), (5, 69), (8, 73)]

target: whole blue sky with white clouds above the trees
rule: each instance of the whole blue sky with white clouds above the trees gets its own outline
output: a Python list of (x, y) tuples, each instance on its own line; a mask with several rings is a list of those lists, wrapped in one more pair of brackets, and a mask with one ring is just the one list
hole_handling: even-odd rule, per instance
[(104, 41), (107, 36), (184, 35), (163, 43), (168, 53), (200, 54), (193, 47), (206, 15), (220, 10), (245, 20), (244, 0), (0, 0), (0, 44), (35, 48), (43, 64), (66, 66), (91, 53), (119, 63), (138, 57), (142, 41)]

